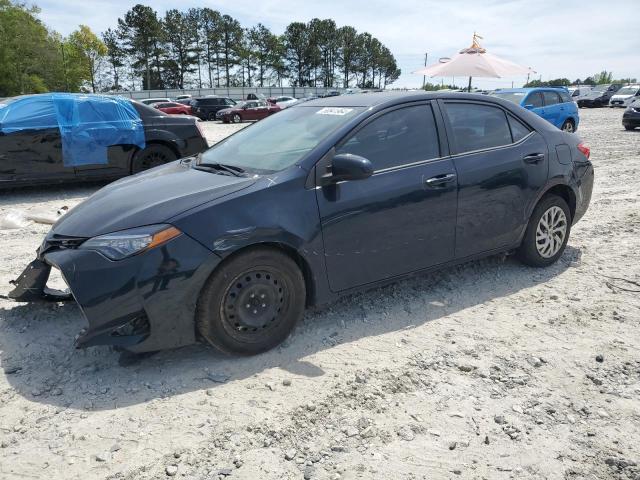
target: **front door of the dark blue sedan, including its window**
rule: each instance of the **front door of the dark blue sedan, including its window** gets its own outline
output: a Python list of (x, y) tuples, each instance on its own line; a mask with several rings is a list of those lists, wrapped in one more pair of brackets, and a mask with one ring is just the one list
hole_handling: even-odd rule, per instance
[(316, 189), (333, 291), (453, 258), (456, 172), (450, 159), (441, 158), (429, 103), (367, 120), (336, 153), (367, 158), (374, 174)]

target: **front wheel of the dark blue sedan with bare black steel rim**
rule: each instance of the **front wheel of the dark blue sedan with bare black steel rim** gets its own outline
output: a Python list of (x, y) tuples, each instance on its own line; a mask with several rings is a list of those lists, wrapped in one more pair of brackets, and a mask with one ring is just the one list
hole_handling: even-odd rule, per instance
[(223, 262), (205, 283), (196, 308), (200, 334), (228, 354), (255, 355), (282, 343), (306, 302), (298, 265), (272, 248), (252, 248)]

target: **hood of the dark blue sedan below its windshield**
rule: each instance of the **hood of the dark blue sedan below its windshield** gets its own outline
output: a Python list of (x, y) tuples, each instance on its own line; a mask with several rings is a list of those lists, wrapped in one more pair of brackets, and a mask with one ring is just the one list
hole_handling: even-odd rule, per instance
[(53, 226), (52, 233), (88, 238), (164, 223), (186, 210), (253, 183), (254, 178), (195, 170), (178, 160), (98, 190), (62, 217)]

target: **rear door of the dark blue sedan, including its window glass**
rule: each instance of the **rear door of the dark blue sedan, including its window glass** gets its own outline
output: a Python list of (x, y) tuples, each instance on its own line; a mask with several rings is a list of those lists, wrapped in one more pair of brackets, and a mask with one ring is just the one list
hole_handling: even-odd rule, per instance
[(458, 174), (455, 256), (511, 248), (547, 181), (546, 141), (497, 105), (440, 103)]

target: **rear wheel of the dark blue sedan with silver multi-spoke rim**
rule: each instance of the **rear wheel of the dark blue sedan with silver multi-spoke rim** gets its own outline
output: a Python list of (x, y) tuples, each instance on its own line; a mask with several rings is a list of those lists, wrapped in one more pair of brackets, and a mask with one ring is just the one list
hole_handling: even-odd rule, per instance
[[(547, 234), (543, 217), (547, 223), (558, 222), (556, 233)], [(550, 219), (553, 220), (550, 222)], [(562, 224), (564, 224), (564, 234), (561, 237)], [(567, 202), (557, 195), (545, 195), (531, 214), (529, 225), (517, 251), (518, 258), (531, 267), (548, 267), (564, 253), (570, 233), (571, 211)]]

